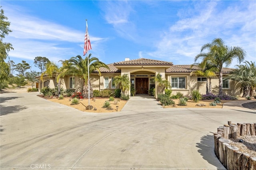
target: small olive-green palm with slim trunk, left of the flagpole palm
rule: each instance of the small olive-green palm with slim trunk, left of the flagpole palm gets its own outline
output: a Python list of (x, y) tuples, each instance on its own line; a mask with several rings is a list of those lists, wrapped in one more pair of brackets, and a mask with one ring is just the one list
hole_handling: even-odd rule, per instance
[(56, 63), (50, 61), (46, 64), (46, 71), (41, 74), (41, 80), (43, 80), (44, 75), (55, 76), (56, 81), (58, 81), (58, 96), (60, 96), (60, 79), (58, 77), (60, 73), (61, 68)]

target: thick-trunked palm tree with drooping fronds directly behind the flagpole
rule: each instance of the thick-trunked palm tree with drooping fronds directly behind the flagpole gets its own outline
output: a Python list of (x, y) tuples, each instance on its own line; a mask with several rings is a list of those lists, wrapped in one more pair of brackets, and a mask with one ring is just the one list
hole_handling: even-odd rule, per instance
[[(76, 75), (81, 77), (83, 80), (83, 89), (82, 89), (82, 96), (84, 98), (93, 97), (93, 89), (90, 87), (90, 94), (88, 94), (88, 86), (90, 85), (90, 81), (88, 80), (88, 65), (89, 65), (89, 75), (94, 72), (98, 71), (99, 75), (101, 76), (100, 68), (104, 67), (108, 69), (108, 65), (99, 61), (96, 57), (91, 57), (92, 54), (90, 53), (88, 57), (83, 59), (80, 55), (76, 57), (71, 57), (63, 66), (63, 72), (59, 75), (60, 77), (64, 77), (65, 75)], [(89, 59), (89, 63), (88, 63)]]

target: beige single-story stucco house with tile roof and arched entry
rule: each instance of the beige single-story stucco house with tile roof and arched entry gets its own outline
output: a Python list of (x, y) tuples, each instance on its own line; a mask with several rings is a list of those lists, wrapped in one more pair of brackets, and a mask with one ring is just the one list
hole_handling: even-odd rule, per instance
[[(173, 65), (172, 62), (159, 61), (154, 59), (133, 59), (126, 58), (124, 61), (108, 64), (109, 69), (102, 68), (101, 76), (97, 71), (90, 75), (90, 84), (95, 90), (109, 89), (114, 92), (118, 89), (113, 83), (116, 75), (128, 74), (130, 83), (136, 89), (136, 94), (148, 94), (151, 87), (157, 88), (154, 77), (160, 73), (163, 78), (167, 79), (172, 86), (172, 94), (181, 92), (189, 95), (190, 91), (198, 89), (201, 94), (206, 93), (206, 77), (199, 77), (191, 73), (198, 68), (191, 65)], [(223, 68), (223, 93), (237, 96), (241, 95), (240, 89), (236, 87), (234, 81), (228, 79), (228, 75), (233, 69)], [(55, 77), (45, 75), (43, 80), (40, 76), (36, 77), (39, 82), (39, 89), (42, 87), (54, 88), (58, 85)], [(218, 73), (211, 79), (212, 93), (218, 94)], [(75, 89), (81, 91), (82, 81), (79, 77), (70, 75), (61, 79), (61, 86), (64, 89)], [(128, 91), (130, 95), (130, 91)], [(157, 94), (156, 94), (157, 96)], [(155, 97), (156, 97), (155, 96)]]

